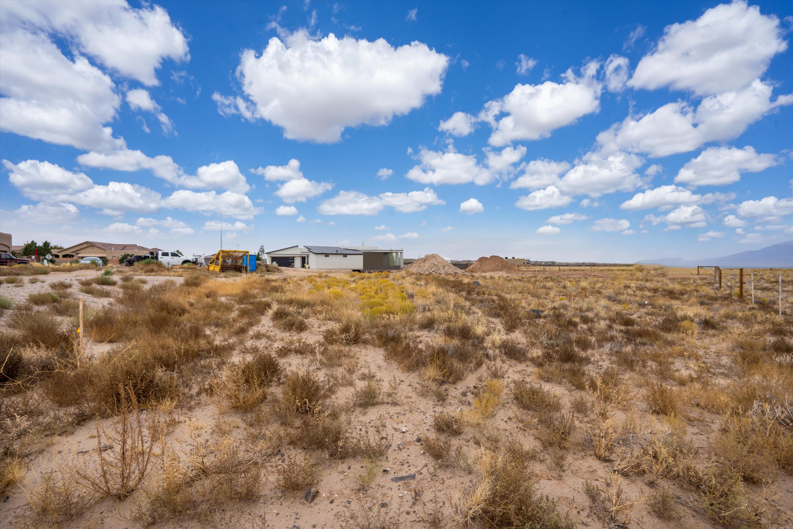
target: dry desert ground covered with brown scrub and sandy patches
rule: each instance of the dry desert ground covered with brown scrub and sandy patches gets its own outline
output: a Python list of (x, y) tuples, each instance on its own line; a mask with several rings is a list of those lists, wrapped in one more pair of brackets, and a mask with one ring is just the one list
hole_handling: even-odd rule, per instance
[(0, 526), (791, 527), (793, 270), (504, 270), (0, 270)]

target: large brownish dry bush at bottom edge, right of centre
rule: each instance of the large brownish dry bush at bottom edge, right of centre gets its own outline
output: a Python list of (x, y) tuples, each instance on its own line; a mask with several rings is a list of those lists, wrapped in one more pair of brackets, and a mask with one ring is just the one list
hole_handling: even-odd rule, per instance
[(554, 500), (537, 493), (532, 454), (517, 443), (481, 454), (481, 478), (453, 500), (460, 527), (550, 527), (572, 529), (575, 522)]

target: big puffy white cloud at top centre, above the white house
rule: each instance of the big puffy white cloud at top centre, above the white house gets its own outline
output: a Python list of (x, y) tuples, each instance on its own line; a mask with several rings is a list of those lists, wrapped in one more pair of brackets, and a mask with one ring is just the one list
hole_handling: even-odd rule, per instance
[(387, 125), (439, 94), (449, 58), (414, 41), (323, 38), (299, 29), (273, 37), (260, 55), (241, 54), (237, 78), (247, 100), (216, 94), (220, 113), (262, 118), (292, 140), (333, 143), (344, 128)]

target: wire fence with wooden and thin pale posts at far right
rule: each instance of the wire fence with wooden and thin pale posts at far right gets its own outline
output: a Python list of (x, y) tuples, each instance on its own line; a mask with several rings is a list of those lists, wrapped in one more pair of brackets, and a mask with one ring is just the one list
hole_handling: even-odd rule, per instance
[[(741, 270), (743, 270), (743, 297), (741, 299)], [(701, 271), (713, 276), (713, 287), (729, 293), (735, 301), (779, 316), (793, 314), (793, 270), (721, 268)]]

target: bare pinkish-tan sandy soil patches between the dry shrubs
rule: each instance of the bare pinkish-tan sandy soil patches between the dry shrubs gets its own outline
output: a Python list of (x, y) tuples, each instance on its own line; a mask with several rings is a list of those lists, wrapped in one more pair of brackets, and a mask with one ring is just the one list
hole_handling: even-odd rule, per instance
[[(272, 274), (270, 277), (291, 278), (305, 277), (317, 274), (318, 270), (294, 270), (284, 269), (284, 274)], [(343, 275), (344, 270), (323, 271), (328, 275)], [(619, 271), (615, 270), (530, 270), (530, 273), (540, 274), (544, 277), (612, 277)], [(0, 286), (2, 295), (13, 297), (17, 301), (24, 301), (29, 293), (43, 292), (48, 290), (48, 282), (70, 278), (73, 282), (77, 278), (86, 278), (96, 275), (98, 272), (81, 271), (73, 274), (50, 274), (43, 277), (44, 282), (14, 287), (10, 285)], [(477, 279), (487, 286), (487, 277), (497, 277), (498, 274), (477, 274)], [(163, 276), (146, 276), (147, 287), (157, 282), (169, 279), (179, 280), (179, 278), (167, 278)], [(117, 287), (111, 287), (117, 289)], [(72, 290), (75, 295), (79, 295), (76, 287)], [(86, 295), (86, 301), (90, 303), (106, 305), (109, 298), (93, 298)], [(320, 320), (310, 320), (308, 331), (295, 333), (283, 332), (276, 328), (268, 317), (262, 318), (262, 322), (251, 331), (251, 336), (263, 335), (264, 338), (249, 338), (248, 343), (260, 343), (265, 347), (274, 347), (285, 339), (297, 338), (308, 340), (309, 342), (320, 342), (322, 332), (330, 325), (328, 322)], [(492, 320), (496, 325), (496, 320)], [(0, 316), (2, 325), (2, 316)], [(434, 333), (427, 332), (427, 337), (434, 337)], [(519, 334), (515, 333), (518, 337)], [(101, 344), (94, 344), (92, 347), (102, 347)], [(358, 458), (347, 458), (344, 460), (324, 460), (322, 478), (317, 486), (320, 494), (311, 503), (305, 501), (301, 495), (288, 496), (282, 495), (274, 486), (274, 468), (282, 457), (288, 456), (293, 452), (293, 448), (282, 446), (278, 457), (270, 462), (267, 470), (270, 471), (268, 483), (264, 487), (262, 497), (253, 503), (232, 504), (228, 509), (215, 512), (210, 519), (178, 519), (169, 523), (161, 523), (156, 527), (262, 527), (257, 526), (255, 520), (260, 516), (266, 517), (266, 524), (263, 527), (279, 527), (284, 529), (308, 528), (308, 527), (343, 527), (343, 523), (350, 516), (350, 512), (358, 512), (359, 509), (374, 510), (380, 509), (388, 516), (397, 516), (400, 519), (401, 527), (429, 527), (429, 520), (433, 516), (441, 516), (445, 527), (450, 521), (450, 502), (462, 492), (467, 485), (471, 485), (476, 479), (477, 472), (465, 473), (460, 470), (450, 470), (443, 468), (434, 459), (429, 457), (423, 450), (422, 437), (433, 433), (431, 424), (433, 417), (439, 412), (454, 412), (458, 408), (466, 409), (472, 404), (471, 389), (476, 389), (484, 380), (484, 368), (477, 373), (470, 374), (469, 377), (457, 384), (446, 386), (449, 398), (445, 402), (437, 402), (429, 397), (422, 397), (419, 391), (421, 382), (419, 374), (406, 373), (400, 370), (393, 362), (384, 358), (384, 351), (380, 347), (373, 346), (352, 346), (355, 356), (360, 359), (360, 369), (358, 373), (370, 372), (376, 378), (384, 382), (388, 387), (393, 384), (395, 394), (392, 401), (388, 404), (377, 404), (366, 410), (358, 409), (351, 416), (351, 427), (359, 431), (377, 431), (378, 435), (386, 435), (391, 443), (388, 455), (379, 463), (379, 475), (374, 481), (374, 486), (367, 493), (362, 493), (355, 484), (354, 477), (362, 472), (365, 464)], [(726, 362), (724, 353), (726, 345), (714, 343), (709, 354), (703, 358), (703, 362), (708, 362), (712, 366), (720, 366)], [(312, 370), (318, 370), (320, 374), (328, 377), (335, 376), (336, 370), (324, 370), (320, 367), (316, 359), (305, 357), (287, 357), (283, 362), (289, 367), (308, 366)], [(511, 362), (501, 358), (497, 362), (506, 370), (504, 381), (511, 381), (515, 378), (532, 378), (536, 368), (530, 362)], [(718, 368), (717, 368), (718, 369)], [(355, 386), (360, 388), (365, 381), (358, 379)], [(543, 383), (548, 389), (554, 389), (565, 401), (565, 408), (570, 401), (578, 395), (585, 395), (584, 391), (570, 389), (568, 385), (557, 385), (553, 383)], [(278, 391), (276, 389), (276, 391)], [(333, 400), (342, 402), (351, 397), (354, 387), (343, 387), (335, 393)], [(629, 401), (628, 409), (634, 407), (641, 410), (644, 407), (638, 400), (638, 391), (634, 387), (634, 397)], [(183, 408), (175, 410), (175, 417), (180, 426), (168, 436), (168, 440), (178, 439), (182, 432), (182, 427), (190, 418), (197, 418), (206, 424), (213, 424), (220, 416), (223, 420), (241, 421), (241, 416), (233, 412), (222, 410), (218, 407), (217, 401), (209, 397), (197, 397), (190, 401)], [(515, 420), (515, 404), (510, 397), (504, 399), (492, 419), (488, 420), (486, 432), (477, 431), (474, 427), (466, 427), (462, 435), (454, 439), (453, 447), (462, 445), (465, 452), (469, 454), (472, 462), (475, 461), (477, 453), (481, 450), (478, 441), (481, 441), (483, 433), (487, 435), (500, 435), (505, 439), (518, 439), (526, 447), (539, 449), (539, 444), (531, 430), (522, 426)], [(626, 412), (619, 412), (618, 422), (626, 417)], [(701, 409), (691, 410), (688, 417), (687, 439), (690, 439), (701, 449), (707, 446), (707, 436), (714, 431), (718, 416), (704, 412)], [(102, 425), (107, 425), (108, 420), (99, 421)], [(96, 450), (92, 439), (96, 431), (96, 424), (88, 421), (81, 427), (68, 435), (63, 435), (52, 439), (52, 444), (44, 448), (34, 458), (30, 465), (30, 470), (26, 478), (26, 485), (36, 483), (40, 474), (56, 464), (63, 462), (64, 454), (73, 454), (73, 457), (81, 454), (91, 454)], [(577, 443), (582, 443), (580, 439)], [(301, 450), (297, 450), (301, 451)], [(558, 498), (559, 505), (563, 512), (569, 512), (572, 516), (580, 519), (584, 527), (604, 527), (603, 521), (595, 516), (591, 509), (591, 502), (583, 491), (584, 481), (594, 481), (596, 484), (604, 485), (608, 480), (609, 464), (600, 462), (593, 458), (588, 450), (570, 450), (569, 455), (561, 461), (554, 461), (551, 458), (541, 457), (536, 465), (536, 470), (540, 473), (541, 480), (538, 489), (543, 495)], [(409, 481), (394, 482), (393, 477), (405, 476), (415, 473), (415, 479)], [(782, 506), (793, 505), (793, 478), (780, 474), (777, 481), (777, 491), (780, 496), (776, 498), (776, 504)], [(651, 485), (647, 485), (640, 477), (626, 478), (623, 481), (623, 488), (627, 495), (631, 497), (642, 496), (649, 493)], [(759, 487), (753, 487), (754, 492), (759, 492)], [(678, 493), (678, 491), (676, 491)], [(683, 502), (686, 498), (680, 492), (679, 499)], [(14, 521), (19, 522), (17, 516), (24, 516), (25, 504), (28, 503), (24, 490), (17, 486), (11, 490), (6, 498), (0, 499), (0, 527), (11, 527)], [(122, 527), (138, 527), (138, 523), (129, 517), (132, 504), (130, 500), (117, 503), (111, 500), (103, 500), (94, 504), (88, 512), (79, 516), (78, 519), (64, 523), (63, 527), (109, 527), (121, 529)], [(680, 508), (679, 518), (668, 523), (661, 523), (652, 516), (642, 518), (641, 525), (638, 527), (649, 529), (649, 527), (717, 527), (703, 514), (699, 514), (692, 509)], [(94, 525), (87, 525), (94, 523)]]

